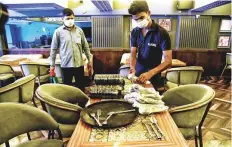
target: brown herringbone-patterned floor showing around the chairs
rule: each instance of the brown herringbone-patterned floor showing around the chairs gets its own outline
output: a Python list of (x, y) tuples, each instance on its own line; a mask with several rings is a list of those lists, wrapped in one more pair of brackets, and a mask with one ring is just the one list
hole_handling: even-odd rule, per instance
[[(207, 77), (201, 81), (216, 91), (210, 111), (203, 124), (204, 147), (232, 147), (231, 142), (231, 84), (230, 80)], [(30, 133), (32, 139), (46, 139), (40, 131)], [(26, 134), (10, 140), (10, 145), (27, 141)], [(189, 147), (195, 147), (195, 141), (187, 141)], [(0, 147), (5, 147), (0, 145)]]

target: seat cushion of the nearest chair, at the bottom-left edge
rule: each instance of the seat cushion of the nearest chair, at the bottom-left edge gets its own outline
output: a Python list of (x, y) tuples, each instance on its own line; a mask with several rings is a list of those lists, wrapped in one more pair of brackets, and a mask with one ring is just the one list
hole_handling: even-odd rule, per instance
[(16, 147), (63, 147), (64, 144), (61, 140), (33, 140), (17, 145)]

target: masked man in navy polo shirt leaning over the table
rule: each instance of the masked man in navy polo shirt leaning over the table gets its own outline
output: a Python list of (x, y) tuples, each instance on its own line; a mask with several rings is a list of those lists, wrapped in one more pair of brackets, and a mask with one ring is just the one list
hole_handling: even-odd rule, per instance
[(141, 83), (149, 80), (157, 89), (163, 86), (161, 72), (172, 64), (169, 34), (150, 18), (146, 1), (133, 1), (128, 12), (138, 26), (131, 32), (130, 73), (135, 73)]

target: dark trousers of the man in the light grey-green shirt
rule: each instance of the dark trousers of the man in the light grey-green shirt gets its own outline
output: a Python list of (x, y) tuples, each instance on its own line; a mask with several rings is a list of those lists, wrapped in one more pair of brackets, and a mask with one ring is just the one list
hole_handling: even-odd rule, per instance
[(69, 67), (62, 68), (62, 79), (63, 83), (66, 85), (72, 85), (72, 79), (75, 78), (75, 86), (84, 90), (85, 81), (84, 81), (84, 66), (81, 67)]

